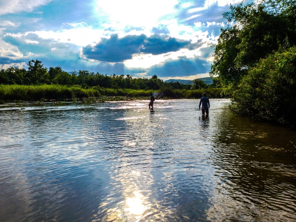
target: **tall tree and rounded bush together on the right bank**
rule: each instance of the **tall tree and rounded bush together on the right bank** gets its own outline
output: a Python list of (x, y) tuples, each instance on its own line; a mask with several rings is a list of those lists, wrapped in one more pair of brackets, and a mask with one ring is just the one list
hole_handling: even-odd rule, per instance
[(232, 97), (232, 110), (296, 126), (296, 1), (230, 7), (210, 75)]

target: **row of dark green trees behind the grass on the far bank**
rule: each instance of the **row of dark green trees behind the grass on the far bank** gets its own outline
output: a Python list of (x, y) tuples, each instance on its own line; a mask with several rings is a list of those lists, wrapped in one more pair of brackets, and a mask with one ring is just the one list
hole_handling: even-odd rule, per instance
[(44, 67), (38, 59), (28, 62), (28, 70), (17, 67), (9, 67), (0, 70), (0, 84), (18, 85), (38, 85), (38, 84), (58, 84), (65, 86), (79, 85), (83, 88), (99, 86), (110, 89), (142, 89), (159, 90), (170, 89), (203, 89), (215, 87), (208, 85), (200, 79), (195, 79), (194, 84), (184, 85), (179, 82), (165, 83), (163, 80), (153, 75), (151, 78), (132, 78), (131, 75), (103, 75), (100, 73), (79, 70), (68, 73), (61, 67)]

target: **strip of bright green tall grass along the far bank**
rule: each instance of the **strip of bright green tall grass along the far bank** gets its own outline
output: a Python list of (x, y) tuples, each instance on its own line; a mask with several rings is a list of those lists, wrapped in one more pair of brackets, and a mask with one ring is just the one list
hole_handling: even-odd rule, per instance
[[(198, 90), (170, 89), (165, 88), (157, 91), (136, 90), (136, 89), (109, 89), (102, 87), (91, 87), (84, 89), (81, 86), (62, 86), (62, 85), (0, 85), (0, 99), (3, 101), (12, 100), (77, 100), (90, 97), (101, 97), (103, 101), (106, 96), (119, 96), (121, 99), (127, 97), (148, 98), (149, 93), (153, 92), (156, 98), (200, 98), (202, 93), (207, 93), (209, 98), (221, 98), (221, 89), (209, 88)], [(226, 98), (227, 96), (222, 95)], [(104, 99), (103, 99), (104, 98)]]

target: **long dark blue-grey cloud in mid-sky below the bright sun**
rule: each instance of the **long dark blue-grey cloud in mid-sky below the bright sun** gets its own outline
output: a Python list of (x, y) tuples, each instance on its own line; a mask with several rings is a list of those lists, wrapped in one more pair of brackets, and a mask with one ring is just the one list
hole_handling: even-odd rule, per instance
[(102, 38), (96, 45), (83, 47), (82, 53), (87, 58), (98, 61), (123, 62), (132, 59), (133, 54), (137, 53), (158, 55), (182, 48), (192, 48), (191, 42), (172, 37), (162, 38), (159, 35), (147, 37), (144, 34), (118, 38), (115, 34), (109, 39)]

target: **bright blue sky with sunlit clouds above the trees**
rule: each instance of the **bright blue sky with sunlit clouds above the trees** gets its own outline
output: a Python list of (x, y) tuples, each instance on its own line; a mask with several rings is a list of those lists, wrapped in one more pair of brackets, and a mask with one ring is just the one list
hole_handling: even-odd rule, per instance
[(242, 0), (0, 0), (0, 69), (208, 77), (223, 13)]

